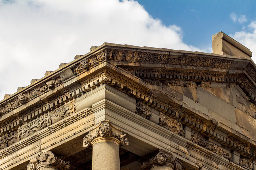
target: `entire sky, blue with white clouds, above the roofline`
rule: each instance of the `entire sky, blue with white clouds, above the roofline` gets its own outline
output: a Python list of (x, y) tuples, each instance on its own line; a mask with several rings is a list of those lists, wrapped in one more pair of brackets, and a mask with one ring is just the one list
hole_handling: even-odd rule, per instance
[(212, 52), (222, 31), (256, 58), (255, 0), (0, 0), (0, 100), (103, 42)]

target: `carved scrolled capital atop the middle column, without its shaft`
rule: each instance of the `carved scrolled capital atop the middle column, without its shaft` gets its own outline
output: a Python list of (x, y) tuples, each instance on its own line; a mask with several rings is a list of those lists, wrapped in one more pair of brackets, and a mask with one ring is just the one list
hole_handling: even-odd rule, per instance
[(114, 127), (110, 122), (102, 121), (98, 126), (91, 129), (83, 138), (83, 147), (89, 147), (94, 144), (97, 139), (115, 140), (119, 146), (128, 146), (129, 141), (123, 130)]

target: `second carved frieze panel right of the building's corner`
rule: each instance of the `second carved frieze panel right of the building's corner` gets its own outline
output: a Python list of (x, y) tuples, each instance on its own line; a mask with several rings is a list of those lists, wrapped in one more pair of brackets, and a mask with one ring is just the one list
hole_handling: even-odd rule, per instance
[(185, 136), (185, 132), (183, 130), (182, 124), (179, 121), (177, 121), (167, 115), (160, 113), (158, 125), (160, 125), (163, 128), (166, 128), (182, 137)]

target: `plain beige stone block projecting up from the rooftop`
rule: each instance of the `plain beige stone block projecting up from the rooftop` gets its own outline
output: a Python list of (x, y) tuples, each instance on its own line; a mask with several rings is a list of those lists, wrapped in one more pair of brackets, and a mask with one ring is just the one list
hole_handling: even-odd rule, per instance
[(252, 52), (250, 49), (235, 41), (223, 32), (219, 32), (212, 36), (212, 51), (221, 55), (233, 55), (246, 57), (250, 59)]

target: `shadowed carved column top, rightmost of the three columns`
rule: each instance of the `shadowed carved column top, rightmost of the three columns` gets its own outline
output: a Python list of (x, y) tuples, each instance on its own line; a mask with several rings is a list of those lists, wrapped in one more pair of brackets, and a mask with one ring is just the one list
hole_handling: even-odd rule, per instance
[[(153, 157), (142, 163), (143, 170), (181, 170), (182, 164), (171, 153), (160, 149)], [(155, 155), (155, 156), (154, 156)]]

